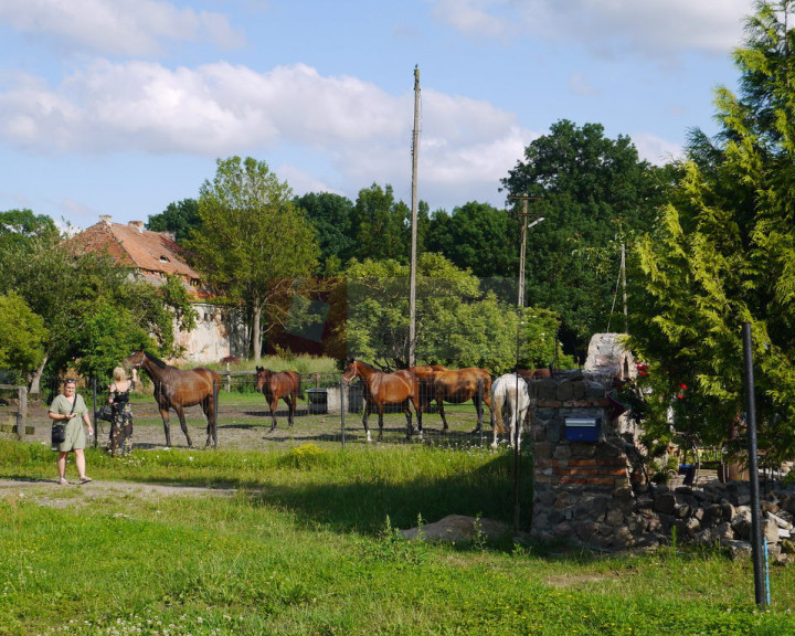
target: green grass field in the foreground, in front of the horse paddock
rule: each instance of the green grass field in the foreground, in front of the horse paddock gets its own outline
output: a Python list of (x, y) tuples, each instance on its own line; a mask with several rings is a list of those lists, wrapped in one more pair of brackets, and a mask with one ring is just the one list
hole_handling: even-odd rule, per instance
[[(424, 445), (91, 451), (94, 485), (0, 486), (0, 634), (795, 633), (793, 569), (772, 570), (759, 612), (750, 563), (717, 551), (600, 556), (396, 533), (449, 513), (510, 522), (511, 462)], [(0, 441), (0, 478), (49, 478), (53, 463), (40, 444)], [(120, 486), (91, 490), (108, 481)], [(140, 497), (130, 483), (232, 495)]]

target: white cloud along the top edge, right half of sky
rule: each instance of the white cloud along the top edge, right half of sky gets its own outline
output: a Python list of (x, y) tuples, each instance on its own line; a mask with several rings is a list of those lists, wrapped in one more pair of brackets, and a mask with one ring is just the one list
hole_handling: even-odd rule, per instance
[(591, 53), (664, 59), (724, 54), (738, 45), (753, 0), (426, 0), (433, 13), (478, 38), (542, 39)]

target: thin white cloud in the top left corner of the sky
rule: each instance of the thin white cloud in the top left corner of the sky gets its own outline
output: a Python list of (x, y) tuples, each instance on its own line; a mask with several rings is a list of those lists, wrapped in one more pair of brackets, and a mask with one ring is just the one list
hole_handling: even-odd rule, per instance
[(224, 15), (159, 0), (2, 0), (0, 22), (70, 51), (102, 55), (158, 55), (169, 41), (224, 47), (243, 42)]

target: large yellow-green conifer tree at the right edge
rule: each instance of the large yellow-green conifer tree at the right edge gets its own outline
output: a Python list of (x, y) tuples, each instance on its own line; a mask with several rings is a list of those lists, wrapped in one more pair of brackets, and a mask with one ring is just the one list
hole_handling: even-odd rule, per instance
[[(720, 441), (742, 411), (741, 324), (754, 336), (761, 443), (795, 453), (795, 31), (792, 2), (757, 2), (734, 52), (740, 95), (717, 93), (714, 139), (692, 136), (686, 174), (638, 250), (646, 298), (633, 347), (687, 424)], [(679, 423), (681, 424), (681, 422)]]

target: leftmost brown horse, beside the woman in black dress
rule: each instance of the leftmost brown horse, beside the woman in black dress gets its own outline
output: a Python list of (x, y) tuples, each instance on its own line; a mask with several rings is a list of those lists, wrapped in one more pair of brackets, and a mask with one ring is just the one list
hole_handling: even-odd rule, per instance
[(204, 447), (210, 446), (210, 441), (212, 441), (213, 447), (218, 448), (218, 392), (221, 388), (221, 377), (215, 371), (204, 367), (177, 369), (142, 350), (131, 353), (125, 363), (134, 369), (142, 368), (155, 382), (155, 400), (163, 421), (166, 446), (171, 446), (169, 409), (177, 412), (182, 433), (188, 439), (188, 446), (192, 447), (193, 443), (184, 420), (184, 409), (201, 404), (208, 421), (208, 439)]

